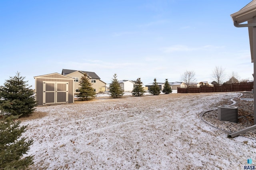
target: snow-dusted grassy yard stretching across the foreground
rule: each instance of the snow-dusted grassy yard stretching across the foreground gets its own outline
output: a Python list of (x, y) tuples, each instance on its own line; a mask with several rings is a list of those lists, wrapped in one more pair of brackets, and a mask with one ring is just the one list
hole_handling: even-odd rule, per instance
[(25, 137), (32, 169), (244, 169), (256, 141), (228, 139), (200, 121), (203, 111), (238, 93), (96, 98), (37, 107)]

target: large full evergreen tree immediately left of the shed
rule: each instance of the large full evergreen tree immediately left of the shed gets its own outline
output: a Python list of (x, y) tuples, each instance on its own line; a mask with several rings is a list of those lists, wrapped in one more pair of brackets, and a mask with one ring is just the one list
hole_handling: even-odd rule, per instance
[(4, 86), (0, 86), (0, 103), (11, 101), (11, 106), (2, 106), (4, 112), (26, 116), (36, 109), (34, 90), (30, 89), (31, 86), (28, 86), (28, 81), (24, 79), (25, 77), (17, 72), (16, 76), (6, 80)]

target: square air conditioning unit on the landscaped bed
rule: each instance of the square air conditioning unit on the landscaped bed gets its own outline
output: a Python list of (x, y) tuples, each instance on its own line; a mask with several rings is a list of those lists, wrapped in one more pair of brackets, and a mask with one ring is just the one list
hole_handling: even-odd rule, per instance
[(218, 119), (221, 121), (238, 122), (238, 109), (234, 106), (219, 106)]

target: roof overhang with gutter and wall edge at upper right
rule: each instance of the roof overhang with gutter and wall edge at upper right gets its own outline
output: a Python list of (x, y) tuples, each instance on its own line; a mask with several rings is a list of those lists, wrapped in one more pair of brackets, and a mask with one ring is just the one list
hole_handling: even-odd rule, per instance
[[(244, 8), (239, 10), (238, 12), (230, 15), (234, 25), (240, 24), (243, 22), (253, 23), (252, 19), (256, 16), (256, 0), (252, 0), (249, 4), (247, 4)], [(253, 41), (252, 41), (252, 27), (248, 27), (249, 32), (249, 41), (250, 41), (250, 51), (251, 51), (251, 59), (253, 63)]]

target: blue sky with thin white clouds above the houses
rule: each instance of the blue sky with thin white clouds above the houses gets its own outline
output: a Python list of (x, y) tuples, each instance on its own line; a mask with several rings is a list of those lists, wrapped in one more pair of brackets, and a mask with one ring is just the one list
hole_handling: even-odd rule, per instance
[(248, 28), (230, 14), (251, 0), (2, 0), (0, 85), (20, 72), (96, 72), (110, 83), (180, 81), (186, 70), (212, 82), (215, 66), (253, 80)]

